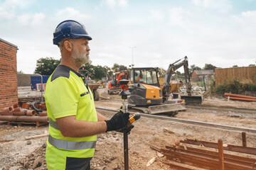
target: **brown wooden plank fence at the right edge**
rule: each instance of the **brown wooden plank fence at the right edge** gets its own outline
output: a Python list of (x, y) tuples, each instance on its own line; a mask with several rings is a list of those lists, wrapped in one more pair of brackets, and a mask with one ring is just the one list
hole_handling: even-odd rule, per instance
[(215, 69), (215, 86), (234, 80), (252, 80), (256, 83), (256, 67), (233, 67), (228, 69)]

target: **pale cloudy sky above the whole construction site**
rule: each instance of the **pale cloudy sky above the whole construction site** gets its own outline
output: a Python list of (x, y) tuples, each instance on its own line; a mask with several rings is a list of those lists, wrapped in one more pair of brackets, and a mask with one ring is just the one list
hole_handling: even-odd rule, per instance
[(53, 31), (80, 21), (92, 36), (94, 65), (162, 67), (256, 64), (256, 0), (0, 0), (0, 38), (18, 46), (17, 67), (34, 72), (41, 57), (60, 59)]

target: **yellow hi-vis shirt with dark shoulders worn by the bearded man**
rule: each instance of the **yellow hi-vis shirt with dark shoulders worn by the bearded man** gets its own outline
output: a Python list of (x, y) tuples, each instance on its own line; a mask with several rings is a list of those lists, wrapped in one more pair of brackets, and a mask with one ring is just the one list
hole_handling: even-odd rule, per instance
[(85, 78), (73, 69), (59, 65), (47, 81), (45, 99), (49, 120), (48, 169), (65, 169), (66, 157), (93, 157), (97, 135), (64, 137), (55, 120), (75, 115), (76, 120), (97, 122), (93, 95), (85, 85)]

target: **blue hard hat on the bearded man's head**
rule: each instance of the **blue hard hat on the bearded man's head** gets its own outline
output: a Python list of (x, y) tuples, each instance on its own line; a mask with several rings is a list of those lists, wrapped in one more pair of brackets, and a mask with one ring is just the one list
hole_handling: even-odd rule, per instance
[(53, 44), (58, 45), (58, 42), (63, 38), (88, 38), (88, 40), (92, 40), (85, 30), (85, 26), (73, 20), (63, 21), (57, 26), (53, 33)]

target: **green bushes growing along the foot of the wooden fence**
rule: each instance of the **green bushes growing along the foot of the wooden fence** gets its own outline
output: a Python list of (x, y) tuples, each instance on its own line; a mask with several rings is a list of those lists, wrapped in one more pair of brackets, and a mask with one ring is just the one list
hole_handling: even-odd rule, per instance
[(233, 82), (225, 82), (225, 84), (219, 85), (215, 89), (213, 84), (211, 84), (210, 89), (217, 94), (224, 94), (225, 92), (240, 94), (245, 91), (256, 91), (256, 84), (253, 84), (252, 81), (240, 81), (235, 79)]

